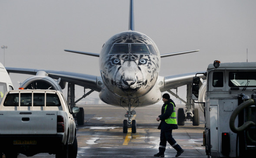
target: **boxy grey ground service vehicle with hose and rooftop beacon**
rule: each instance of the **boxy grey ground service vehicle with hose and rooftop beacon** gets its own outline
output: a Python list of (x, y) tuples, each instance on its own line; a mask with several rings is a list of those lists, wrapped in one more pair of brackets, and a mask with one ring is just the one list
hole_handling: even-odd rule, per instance
[[(255, 157), (256, 62), (214, 61), (206, 74), (206, 154), (212, 158)], [(193, 99), (198, 96), (198, 80), (194, 78)]]

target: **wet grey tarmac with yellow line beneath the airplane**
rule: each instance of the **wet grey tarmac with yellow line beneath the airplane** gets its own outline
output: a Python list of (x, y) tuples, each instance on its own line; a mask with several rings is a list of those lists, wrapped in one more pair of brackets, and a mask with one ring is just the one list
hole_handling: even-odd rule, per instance
[[(77, 126), (78, 154), (77, 158), (154, 158), (160, 142), (159, 122), (161, 105), (136, 108), (135, 120), (137, 132), (122, 133), (122, 122), (126, 110), (110, 105), (79, 105), (85, 109), (85, 125)], [(177, 105), (177, 108), (185, 106)], [(200, 111), (200, 110), (199, 110)], [(173, 137), (184, 149), (180, 158), (207, 158), (203, 145), (204, 118), (200, 111), (200, 125), (193, 126), (185, 122), (173, 130)], [(175, 158), (176, 151), (167, 145), (165, 157)], [(35, 158), (55, 158), (46, 153), (34, 155)], [(26, 158), (19, 155), (18, 158)]]

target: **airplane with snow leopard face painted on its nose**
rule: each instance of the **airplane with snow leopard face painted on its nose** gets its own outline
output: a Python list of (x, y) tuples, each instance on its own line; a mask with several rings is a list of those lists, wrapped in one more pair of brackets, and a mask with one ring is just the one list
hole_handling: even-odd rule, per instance
[[(31, 68), (6, 68), (9, 73), (32, 74), (35, 76), (26, 79), (20, 87), (24, 89), (55, 89), (62, 90), (68, 82), (68, 103), (74, 106), (82, 98), (93, 91), (99, 92), (99, 98), (109, 105), (126, 109), (123, 120), (123, 133), (136, 133), (136, 120), (132, 119), (136, 114), (135, 108), (152, 105), (161, 100), (161, 93), (168, 91), (174, 97), (181, 99), (171, 89), (187, 85), (186, 111), (178, 109), (178, 125), (184, 125), (186, 119), (193, 121), (194, 126), (199, 125), (198, 109), (194, 108), (191, 101), (192, 79), (197, 74), (201, 77), (201, 85), (206, 77), (205, 71), (187, 74), (159, 76), (161, 58), (174, 55), (182, 55), (199, 50), (176, 52), (161, 55), (157, 45), (148, 35), (135, 31), (133, 0), (130, 0), (128, 31), (113, 35), (102, 46), (100, 54), (67, 50), (66, 52), (90, 55), (99, 58), (100, 75), (73, 73), (66, 71), (53, 71)], [(91, 89), (81, 98), (75, 101), (75, 85)], [(201, 86), (205, 87), (205, 86)], [(201, 89), (201, 88), (200, 88)], [(202, 92), (202, 90), (200, 90)], [(203, 93), (203, 92), (202, 92)], [(202, 94), (201, 93), (201, 94)], [(203, 109), (203, 106), (200, 106)], [(78, 125), (84, 124), (84, 110), (76, 116)]]

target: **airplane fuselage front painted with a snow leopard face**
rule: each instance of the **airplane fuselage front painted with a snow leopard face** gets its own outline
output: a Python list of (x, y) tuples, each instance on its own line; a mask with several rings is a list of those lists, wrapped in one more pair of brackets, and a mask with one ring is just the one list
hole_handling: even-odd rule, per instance
[(161, 99), (155, 86), (160, 53), (147, 35), (126, 31), (112, 36), (102, 47), (99, 67), (104, 83), (99, 95), (105, 103), (120, 106), (121, 101), (126, 104), (125, 100), (131, 100), (146, 106)]

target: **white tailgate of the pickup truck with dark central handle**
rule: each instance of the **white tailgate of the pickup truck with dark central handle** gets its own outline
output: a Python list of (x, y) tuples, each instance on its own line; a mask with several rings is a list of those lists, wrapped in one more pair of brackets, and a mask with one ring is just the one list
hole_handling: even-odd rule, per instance
[(57, 134), (57, 111), (1, 111), (0, 134)]

